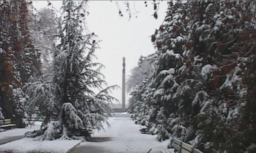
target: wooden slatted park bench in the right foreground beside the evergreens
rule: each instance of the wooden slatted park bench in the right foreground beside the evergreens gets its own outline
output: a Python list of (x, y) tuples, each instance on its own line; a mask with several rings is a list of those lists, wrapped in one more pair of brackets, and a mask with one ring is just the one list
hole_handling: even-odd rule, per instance
[(161, 153), (203, 153), (198, 149), (195, 149), (190, 144), (180, 141), (179, 139), (173, 138), (171, 143), (173, 149), (161, 150)]

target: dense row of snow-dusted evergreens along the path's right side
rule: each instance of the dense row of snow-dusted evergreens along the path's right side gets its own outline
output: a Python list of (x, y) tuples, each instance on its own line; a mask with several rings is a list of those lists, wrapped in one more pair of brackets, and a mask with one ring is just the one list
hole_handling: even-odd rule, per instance
[(162, 141), (206, 153), (254, 153), (256, 3), (170, 2), (152, 35), (152, 75), (132, 90), (131, 113)]

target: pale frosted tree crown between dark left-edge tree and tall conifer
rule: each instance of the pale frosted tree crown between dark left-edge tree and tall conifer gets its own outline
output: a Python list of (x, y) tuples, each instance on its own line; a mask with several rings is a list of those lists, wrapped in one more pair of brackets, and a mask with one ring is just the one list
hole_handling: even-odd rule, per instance
[(32, 28), (32, 40), (35, 48), (41, 53), (41, 71), (49, 73), (52, 65), (53, 45), (58, 34), (58, 18), (55, 12), (49, 8), (42, 8), (36, 14), (30, 12), (30, 27)]

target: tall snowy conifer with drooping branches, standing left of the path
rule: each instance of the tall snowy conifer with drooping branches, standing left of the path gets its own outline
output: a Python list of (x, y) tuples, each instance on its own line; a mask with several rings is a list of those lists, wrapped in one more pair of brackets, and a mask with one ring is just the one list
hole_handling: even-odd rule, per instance
[[(117, 99), (109, 92), (116, 86), (103, 89), (106, 84), (100, 73), (103, 65), (92, 62), (98, 44), (96, 36), (83, 27), (86, 3), (63, 1), (60, 44), (54, 49), (52, 74), (49, 74), (52, 79), (49, 81), (45, 74), (27, 84), (28, 104), (39, 108), (38, 116), (46, 116), (41, 129), (26, 133), (28, 137), (39, 136), (43, 140), (88, 137), (94, 129), (103, 129), (103, 122), (107, 122), (112, 112), (108, 104)], [(93, 88), (98, 88), (99, 93), (95, 94)], [(41, 98), (44, 103), (38, 103)]]

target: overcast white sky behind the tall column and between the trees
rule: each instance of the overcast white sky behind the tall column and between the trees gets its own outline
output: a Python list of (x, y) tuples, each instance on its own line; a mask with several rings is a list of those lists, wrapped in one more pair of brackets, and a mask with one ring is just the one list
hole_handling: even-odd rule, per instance
[[(128, 13), (125, 12), (125, 4), (118, 1), (123, 12), (123, 17), (119, 17), (116, 1), (89, 1), (89, 12), (87, 24), (89, 30), (99, 36), (100, 49), (96, 51), (97, 61), (105, 65), (102, 73), (108, 85), (119, 85), (122, 87), (122, 57), (126, 60), (126, 79), (131, 68), (137, 65), (140, 55), (154, 53), (155, 49), (151, 43), (151, 34), (158, 29), (166, 15), (167, 1), (160, 3), (158, 19), (151, 16), (153, 11), (152, 0), (129, 1), (131, 11), (135, 13), (134, 7), (139, 13), (132, 14), (128, 20)], [(61, 8), (61, 1), (51, 1), (52, 6), (58, 10)], [(47, 1), (33, 1), (33, 6), (40, 9), (47, 7)], [(137, 16), (137, 18), (136, 18)], [(113, 92), (113, 96), (122, 102), (121, 89)], [(128, 95), (126, 96), (128, 102)]]

